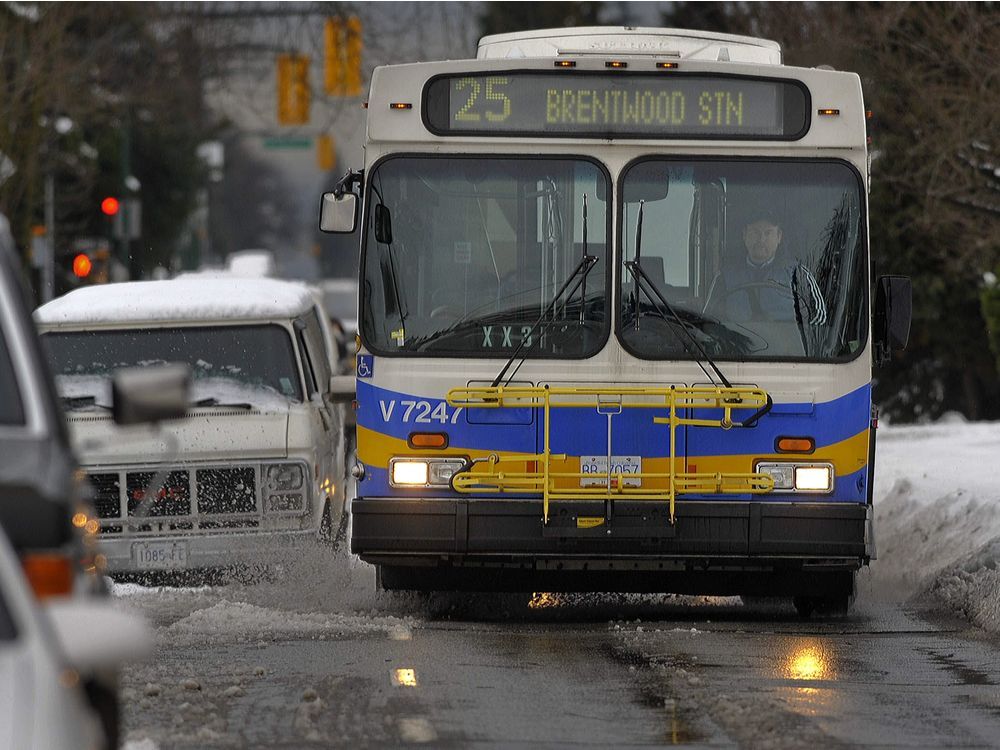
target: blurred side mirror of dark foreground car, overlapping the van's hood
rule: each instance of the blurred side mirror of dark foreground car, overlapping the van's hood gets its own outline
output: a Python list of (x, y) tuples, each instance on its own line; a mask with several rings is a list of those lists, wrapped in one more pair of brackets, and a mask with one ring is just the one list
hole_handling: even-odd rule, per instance
[(111, 380), (111, 414), (117, 424), (147, 424), (187, 414), (191, 368), (185, 364), (128, 367)]

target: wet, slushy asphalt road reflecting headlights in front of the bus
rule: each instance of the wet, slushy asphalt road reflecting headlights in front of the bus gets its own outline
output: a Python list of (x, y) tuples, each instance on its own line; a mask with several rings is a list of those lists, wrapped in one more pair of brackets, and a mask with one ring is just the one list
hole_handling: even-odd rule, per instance
[(126, 589), (159, 747), (986, 747), (1000, 644), (869, 577), (843, 619), (734, 599), (376, 596), (323, 551), (276, 581)]

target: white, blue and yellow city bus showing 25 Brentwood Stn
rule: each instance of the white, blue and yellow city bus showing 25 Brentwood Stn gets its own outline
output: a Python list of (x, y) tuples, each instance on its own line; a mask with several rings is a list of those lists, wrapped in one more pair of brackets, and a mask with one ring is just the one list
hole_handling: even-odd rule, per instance
[(360, 228), (351, 549), (377, 584), (846, 611), (872, 369), (910, 324), (909, 280), (870, 279), (866, 130), (856, 74), (750, 37), (376, 68), (320, 228)]

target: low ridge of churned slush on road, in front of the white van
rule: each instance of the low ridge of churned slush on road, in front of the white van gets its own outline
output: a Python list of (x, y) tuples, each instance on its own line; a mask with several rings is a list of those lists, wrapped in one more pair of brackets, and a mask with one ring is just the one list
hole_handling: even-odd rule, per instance
[(220, 601), (199, 609), (165, 629), (171, 642), (273, 641), (279, 638), (337, 638), (356, 633), (385, 633), (395, 639), (411, 623), (398, 617), (365, 617), (320, 612), (289, 612), (239, 601)]

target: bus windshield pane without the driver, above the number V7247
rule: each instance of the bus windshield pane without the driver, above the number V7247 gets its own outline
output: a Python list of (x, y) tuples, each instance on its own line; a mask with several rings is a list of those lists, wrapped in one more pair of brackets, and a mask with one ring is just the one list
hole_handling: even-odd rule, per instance
[[(594, 162), (396, 157), (368, 183), (373, 351), (506, 358), (523, 340), (526, 357), (587, 357), (604, 344), (611, 188)], [(596, 263), (560, 295), (584, 255)]]

